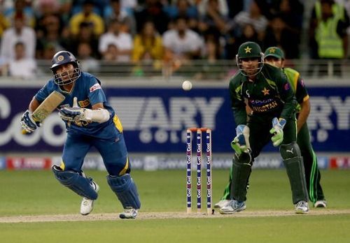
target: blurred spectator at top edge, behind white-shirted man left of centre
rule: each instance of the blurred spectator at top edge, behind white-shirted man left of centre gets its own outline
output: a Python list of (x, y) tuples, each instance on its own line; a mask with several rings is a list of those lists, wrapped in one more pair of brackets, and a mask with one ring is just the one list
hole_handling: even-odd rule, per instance
[(106, 8), (104, 13), (104, 21), (108, 25), (111, 20), (118, 20), (123, 23), (122, 29), (124, 32), (136, 34), (136, 22), (134, 15), (129, 15), (126, 10), (121, 8), (120, 0), (111, 0), (110, 6)]

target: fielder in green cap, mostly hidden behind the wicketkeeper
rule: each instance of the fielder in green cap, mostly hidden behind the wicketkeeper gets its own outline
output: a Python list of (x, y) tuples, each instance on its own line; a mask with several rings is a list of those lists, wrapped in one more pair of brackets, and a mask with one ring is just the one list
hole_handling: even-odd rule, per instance
[[(320, 184), (321, 172), (318, 169), (317, 157), (312, 149), (309, 128), (307, 127), (307, 117), (310, 112), (309, 94), (307, 93), (304, 81), (300, 77), (300, 73), (293, 68), (284, 68), (284, 59), (284, 53), (279, 47), (269, 47), (265, 50), (265, 63), (278, 68), (283, 68), (283, 72), (286, 74), (288, 82), (293, 88), (295, 97), (297, 98), (297, 145), (300, 147), (300, 152), (304, 161), (309, 200), (314, 204), (314, 207), (327, 207), (327, 201), (325, 200), (322, 186)], [(251, 112), (251, 110), (248, 110), (248, 113), (249, 112)], [(216, 208), (223, 207), (231, 198), (231, 175), (232, 167), (230, 169), (229, 183), (225, 187), (223, 197), (218, 203), (216, 203)]]

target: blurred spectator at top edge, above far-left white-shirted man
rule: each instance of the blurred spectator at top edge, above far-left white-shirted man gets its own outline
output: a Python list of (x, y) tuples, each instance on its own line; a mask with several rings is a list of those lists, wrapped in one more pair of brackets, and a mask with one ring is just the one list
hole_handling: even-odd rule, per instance
[(34, 27), (35, 18), (30, 3), (31, 1), (15, 0), (14, 8), (5, 10), (5, 16), (11, 26), (14, 26), (15, 20), (20, 17), (23, 19), (25, 26)]

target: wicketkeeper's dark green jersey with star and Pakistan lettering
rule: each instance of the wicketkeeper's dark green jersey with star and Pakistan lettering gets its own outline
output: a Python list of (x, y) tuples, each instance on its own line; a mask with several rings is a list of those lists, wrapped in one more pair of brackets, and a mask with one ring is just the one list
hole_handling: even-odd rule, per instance
[(293, 88), (281, 68), (264, 64), (252, 82), (237, 73), (230, 80), (232, 110), (237, 125), (246, 124), (246, 104), (253, 116), (290, 119), (295, 116), (297, 105)]

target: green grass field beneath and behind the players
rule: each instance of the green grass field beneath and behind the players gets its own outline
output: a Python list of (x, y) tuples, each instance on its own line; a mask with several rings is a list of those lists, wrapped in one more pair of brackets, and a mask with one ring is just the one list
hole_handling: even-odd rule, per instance
[[(86, 173), (100, 186), (92, 215), (120, 212), (106, 172)], [(135, 220), (116, 216), (116, 220), (0, 223), (0, 242), (349, 242), (350, 170), (323, 170), (321, 174), (329, 207), (311, 208), (308, 215), (244, 216), (264, 210), (293, 213), (285, 170), (253, 170), (247, 209), (239, 216)], [(142, 202), (140, 216), (186, 212), (185, 170), (133, 171), (132, 175)], [(221, 197), (227, 179), (228, 171), (213, 171), (214, 202)], [(0, 185), (0, 219), (79, 214), (80, 198), (61, 186), (50, 171), (0, 171)], [(342, 209), (346, 213), (316, 214)]]

